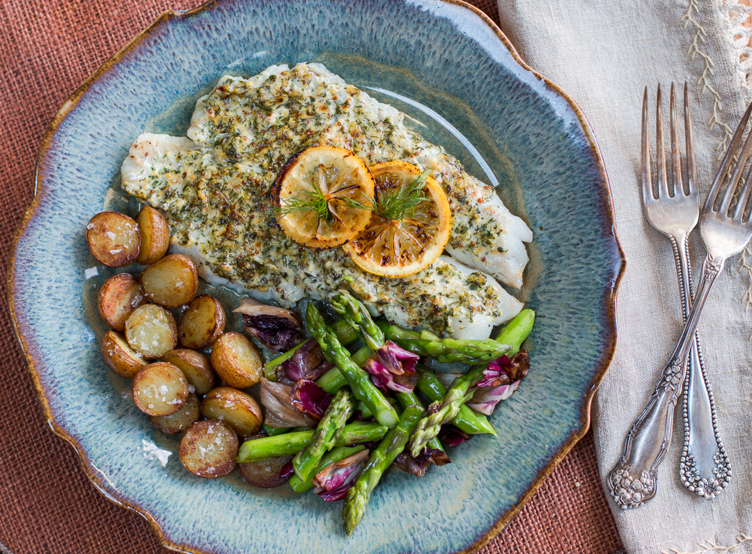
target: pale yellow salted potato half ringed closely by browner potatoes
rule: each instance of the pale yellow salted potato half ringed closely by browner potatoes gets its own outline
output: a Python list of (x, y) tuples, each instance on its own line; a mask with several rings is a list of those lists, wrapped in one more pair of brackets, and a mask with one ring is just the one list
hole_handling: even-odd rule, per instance
[(155, 304), (139, 306), (126, 319), (126, 340), (146, 359), (164, 356), (177, 346), (175, 319)]

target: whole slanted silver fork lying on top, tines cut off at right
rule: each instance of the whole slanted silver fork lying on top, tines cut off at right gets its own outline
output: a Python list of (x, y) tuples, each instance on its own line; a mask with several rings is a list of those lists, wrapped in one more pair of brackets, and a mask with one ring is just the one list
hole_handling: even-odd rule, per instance
[[(729, 174), (729, 167), (734, 159), (735, 151), (742, 135), (744, 135), (750, 111), (752, 111), (752, 104), (747, 107), (744, 116), (741, 118), (731, 144), (729, 144), (729, 150), (723, 157), (723, 162), (721, 162), (720, 169), (708, 193), (705, 206), (702, 208), (700, 236), (708, 255), (702, 264), (702, 275), (698, 284), (695, 303), (687, 315), (687, 321), (681, 331), (678, 344), (669, 362), (663, 368), (647, 407), (632, 425), (632, 429), (626, 437), (620, 462), (608, 475), (608, 489), (614, 501), (623, 510), (638, 507), (644, 501), (653, 498), (656, 493), (657, 470), (671, 444), (674, 408), (678, 396), (681, 394), (687, 368), (687, 355), (695, 342), (695, 331), (700, 313), (702, 313), (702, 307), (705, 306), (713, 283), (715, 283), (720, 272), (723, 271), (726, 259), (740, 253), (752, 238), (752, 222), (750, 222), (750, 217), (745, 215), (747, 201), (750, 198), (750, 192), (752, 192), (752, 179), (750, 179), (752, 170), (747, 172), (744, 182), (740, 184), (741, 173), (744, 171), (744, 165), (746, 165), (750, 150), (752, 150), (752, 132), (747, 135), (747, 140), (744, 141), (744, 147), (742, 147), (738, 156), (734, 172), (728, 179), (729, 184), (725, 195), (723, 195), (723, 200), (720, 202), (720, 207), (717, 210), (714, 207), (718, 192), (720, 192), (720, 188)], [(643, 112), (643, 116), (645, 115), (645, 112)], [(646, 135), (645, 127), (643, 127), (644, 140), (647, 138)], [(662, 141), (662, 136), (659, 141)], [(673, 143), (676, 144), (677, 141), (673, 141)], [(672, 148), (672, 156), (674, 151)], [(678, 155), (678, 148), (676, 152)], [(687, 158), (691, 159), (691, 156), (688, 155)], [(691, 161), (690, 165), (693, 165)], [(647, 173), (649, 174), (649, 170)], [(692, 168), (690, 169), (690, 177), (694, 177), (693, 173), (694, 169)], [(681, 181), (678, 182), (681, 183)], [(659, 186), (661, 186), (661, 183), (659, 183)], [(736, 195), (738, 186), (741, 187), (741, 191)], [(652, 195), (652, 192), (650, 194)], [(668, 195), (668, 188), (666, 188), (666, 195)], [(734, 204), (733, 213), (729, 215), (729, 209), (732, 207), (735, 198), (737, 198), (737, 201)], [(720, 477), (725, 479), (726, 476)], [(711, 491), (706, 492), (709, 494)]]

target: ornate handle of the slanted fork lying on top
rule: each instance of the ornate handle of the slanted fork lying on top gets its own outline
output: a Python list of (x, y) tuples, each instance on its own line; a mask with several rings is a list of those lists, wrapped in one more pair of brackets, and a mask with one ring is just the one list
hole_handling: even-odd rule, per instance
[(622, 510), (638, 507), (656, 493), (658, 466), (669, 451), (676, 401), (687, 373), (687, 354), (702, 307), (725, 263), (724, 257), (705, 258), (697, 298), (674, 353), (664, 366), (650, 401), (626, 437), (620, 462), (608, 474), (608, 489)]

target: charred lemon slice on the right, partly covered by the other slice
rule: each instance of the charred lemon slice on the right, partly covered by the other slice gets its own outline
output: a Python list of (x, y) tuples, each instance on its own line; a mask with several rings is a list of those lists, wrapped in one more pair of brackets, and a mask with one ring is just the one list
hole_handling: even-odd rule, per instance
[(451, 212), (438, 183), (406, 162), (373, 165), (376, 205), (368, 227), (344, 245), (360, 268), (405, 277), (427, 268), (449, 240)]

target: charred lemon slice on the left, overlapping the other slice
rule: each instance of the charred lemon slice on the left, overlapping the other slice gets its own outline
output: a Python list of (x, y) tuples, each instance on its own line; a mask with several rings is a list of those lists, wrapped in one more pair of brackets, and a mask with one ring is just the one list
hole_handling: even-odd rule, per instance
[(287, 162), (273, 195), (287, 236), (307, 247), (332, 248), (368, 226), (374, 180), (350, 150), (312, 147)]

